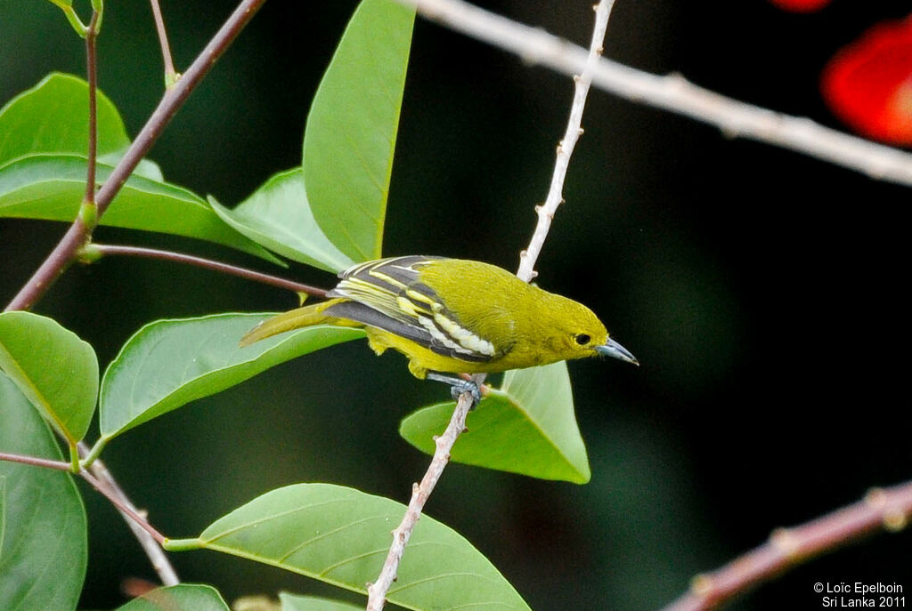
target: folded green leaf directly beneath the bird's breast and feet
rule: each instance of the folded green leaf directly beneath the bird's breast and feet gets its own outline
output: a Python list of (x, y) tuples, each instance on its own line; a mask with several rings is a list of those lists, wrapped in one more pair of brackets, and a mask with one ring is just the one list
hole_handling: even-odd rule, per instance
[[(410, 414), (399, 434), (434, 453), (433, 435), (447, 428), (454, 406), (439, 403)], [(466, 428), (452, 449), (457, 463), (575, 484), (591, 477), (565, 362), (507, 372), (503, 388), (469, 412)]]

